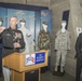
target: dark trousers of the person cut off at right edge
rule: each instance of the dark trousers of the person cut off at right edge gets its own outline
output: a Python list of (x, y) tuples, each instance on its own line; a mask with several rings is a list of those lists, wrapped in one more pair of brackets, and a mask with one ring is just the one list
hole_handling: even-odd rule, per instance
[(80, 58), (78, 58), (77, 59), (77, 69), (76, 69), (76, 81), (80, 81), (81, 68), (82, 68), (82, 60), (80, 60)]

